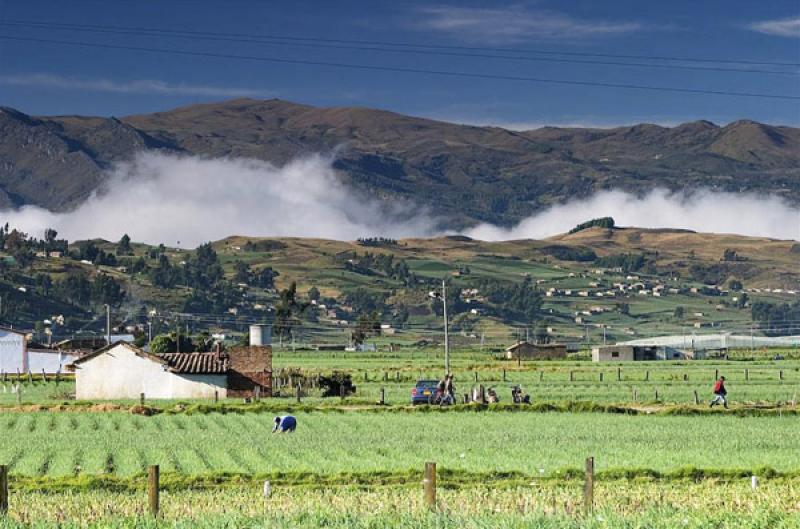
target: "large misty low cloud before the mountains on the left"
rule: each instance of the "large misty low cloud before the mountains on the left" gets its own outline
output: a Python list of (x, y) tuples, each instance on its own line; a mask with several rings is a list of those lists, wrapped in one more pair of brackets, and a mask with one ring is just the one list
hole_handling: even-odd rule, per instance
[(128, 233), (137, 241), (184, 247), (229, 235), (431, 235), (434, 225), (424, 211), (360, 196), (322, 156), (277, 168), (257, 160), (143, 153), (120, 165), (105, 191), (75, 211), (25, 206), (2, 217), (40, 236), (53, 227), (70, 240), (117, 240)]

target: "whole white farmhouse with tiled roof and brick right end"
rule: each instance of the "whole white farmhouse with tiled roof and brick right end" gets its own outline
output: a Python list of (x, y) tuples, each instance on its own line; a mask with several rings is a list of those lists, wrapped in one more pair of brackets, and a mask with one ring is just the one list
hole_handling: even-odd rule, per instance
[(211, 399), (272, 395), (272, 347), (254, 343), (227, 351), (155, 355), (111, 344), (73, 362), (79, 400)]

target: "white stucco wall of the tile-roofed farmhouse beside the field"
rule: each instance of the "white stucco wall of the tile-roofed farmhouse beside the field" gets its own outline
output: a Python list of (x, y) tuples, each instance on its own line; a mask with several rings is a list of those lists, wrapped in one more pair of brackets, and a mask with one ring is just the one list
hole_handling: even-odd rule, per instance
[(75, 396), (80, 400), (212, 399), (227, 394), (225, 375), (178, 375), (164, 366), (137, 356), (124, 345), (78, 364), (75, 369)]

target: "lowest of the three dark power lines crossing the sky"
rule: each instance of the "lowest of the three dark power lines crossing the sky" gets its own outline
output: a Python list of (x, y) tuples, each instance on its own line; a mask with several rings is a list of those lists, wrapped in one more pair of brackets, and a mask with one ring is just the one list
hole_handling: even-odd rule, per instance
[(602, 82), (595, 82), (595, 81), (576, 81), (576, 80), (552, 79), (552, 78), (548, 79), (548, 78), (541, 78), (541, 77), (497, 75), (497, 74), (486, 74), (486, 73), (476, 73), (476, 72), (456, 72), (456, 71), (448, 71), (448, 70), (428, 70), (428, 69), (421, 69), (421, 68), (401, 68), (401, 67), (394, 67), (394, 66), (379, 66), (379, 65), (369, 65), (369, 64), (355, 64), (355, 63), (343, 63), (343, 62), (328, 62), (328, 61), (311, 61), (311, 60), (287, 59), (287, 58), (282, 58), (282, 57), (265, 57), (265, 56), (256, 56), (256, 55), (236, 55), (236, 54), (229, 54), (229, 53), (213, 53), (213, 52), (201, 52), (201, 51), (176, 50), (176, 49), (171, 49), (171, 48), (151, 48), (151, 47), (145, 47), (145, 46), (125, 46), (125, 45), (117, 45), (117, 44), (100, 44), (100, 43), (83, 42), (83, 41), (70, 41), (70, 40), (57, 40), (57, 39), (40, 39), (40, 38), (33, 38), (33, 37), (16, 37), (16, 36), (12, 36), (12, 35), (0, 35), (0, 40), (10, 40), (10, 41), (20, 41), (20, 42), (37, 42), (37, 43), (42, 43), (42, 44), (59, 44), (59, 45), (64, 45), (64, 46), (79, 46), (79, 47), (98, 48), (98, 49), (141, 51), (141, 52), (148, 52), (148, 53), (162, 53), (162, 54), (193, 56), (193, 57), (211, 57), (211, 58), (220, 58), (220, 59), (239, 59), (239, 60), (249, 60), (249, 61), (258, 61), (258, 62), (271, 62), (271, 63), (279, 63), (279, 64), (298, 64), (298, 65), (304, 65), (304, 66), (328, 66), (328, 67), (332, 67), (332, 68), (349, 69), (349, 70), (368, 70), (368, 71), (381, 71), (381, 72), (412, 73), (412, 74), (422, 74), (422, 75), (434, 75), (434, 76), (439, 76), (439, 77), (459, 77), (459, 78), (467, 78), (467, 79), (491, 79), (491, 80), (501, 80), (501, 81), (530, 82), (530, 83), (556, 84), (556, 85), (567, 85), (567, 86), (592, 86), (592, 87), (599, 87), (599, 88), (618, 88), (618, 89), (625, 89), (625, 90), (642, 90), (642, 91), (651, 91), (651, 92), (669, 92), (669, 93), (681, 93), (681, 94), (701, 94), (701, 95), (730, 96), (730, 97), (780, 99), (780, 100), (791, 100), (791, 101), (800, 100), (800, 96), (789, 95), (789, 94), (764, 94), (764, 93), (758, 93), (758, 92), (733, 92), (733, 91), (727, 91), (727, 90), (707, 90), (707, 89), (700, 89), (700, 88), (648, 86), (648, 85), (636, 85), (636, 84), (628, 84), (628, 83), (602, 83)]

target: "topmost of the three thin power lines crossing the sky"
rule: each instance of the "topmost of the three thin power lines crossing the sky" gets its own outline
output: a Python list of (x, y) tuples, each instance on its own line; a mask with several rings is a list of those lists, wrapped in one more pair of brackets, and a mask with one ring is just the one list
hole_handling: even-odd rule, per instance
[(434, 49), (434, 50), (465, 50), (465, 51), (491, 51), (515, 54), (538, 54), (538, 55), (562, 55), (573, 57), (605, 57), (613, 59), (636, 59), (636, 60), (656, 60), (656, 61), (679, 61), (679, 62), (693, 62), (693, 63), (721, 63), (721, 64), (741, 64), (750, 66), (800, 66), (800, 62), (780, 62), (780, 61), (766, 61), (766, 60), (742, 60), (742, 59), (723, 59), (723, 58), (704, 58), (704, 57), (676, 57), (666, 55), (623, 55), (613, 53), (593, 53), (593, 52), (577, 52), (577, 51), (552, 51), (540, 49), (514, 49), (514, 48), (492, 48), (486, 46), (456, 46), (444, 44), (411, 44), (407, 42), (392, 42), (392, 41), (378, 41), (378, 40), (356, 40), (356, 39), (328, 39), (321, 37), (295, 37), (287, 35), (274, 35), (274, 34), (252, 34), (252, 33), (223, 33), (211, 31), (196, 31), (196, 30), (169, 30), (169, 29), (156, 29), (156, 28), (143, 28), (135, 26), (99, 26), (92, 24), (65, 24), (53, 22), (39, 22), (33, 20), (7, 20), (8, 23), (14, 24), (60, 24), (62, 26), (74, 26), (84, 28), (99, 28), (99, 29), (117, 29), (117, 30), (130, 30), (130, 31), (158, 31), (164, 33), (184, 34), (184, 35), (197, 35), (197, 36), (215, 36), (215, 37), (240, 37), (252, 39), (279, 39), (296, 42), (322, 42), (333, 44), (354, 44), (354, 45), (373, 45), (373, 46), (388, 46), (396, 48), (407, 49)]

